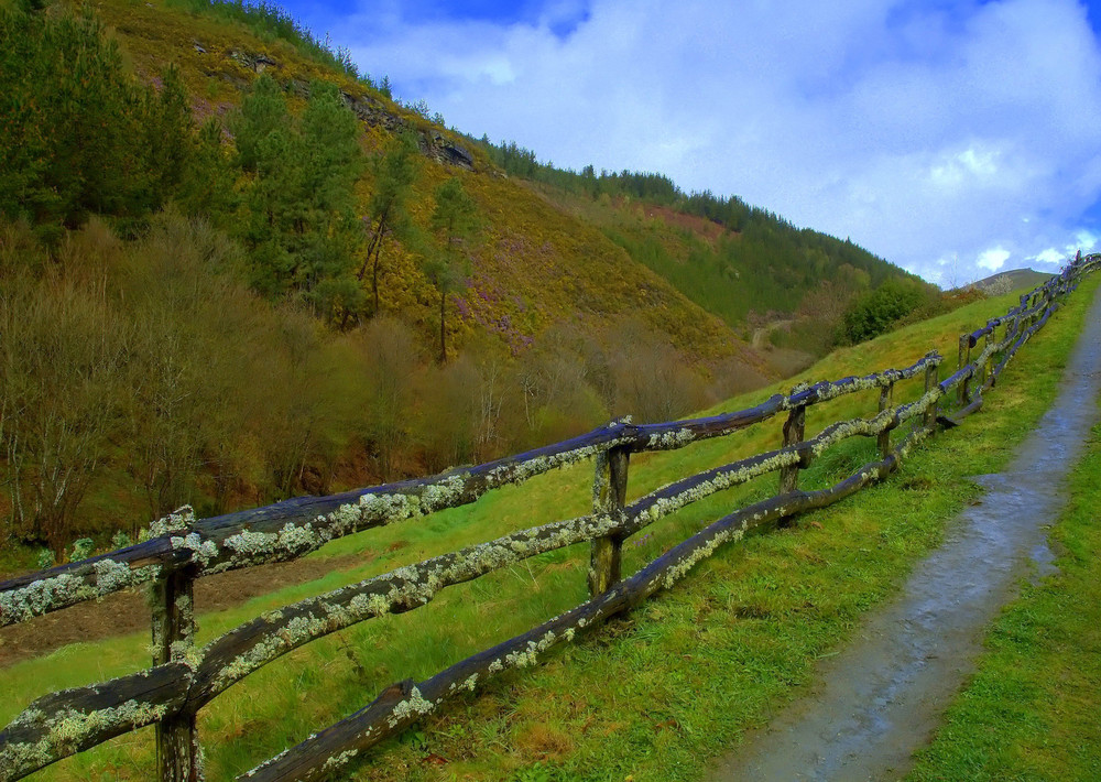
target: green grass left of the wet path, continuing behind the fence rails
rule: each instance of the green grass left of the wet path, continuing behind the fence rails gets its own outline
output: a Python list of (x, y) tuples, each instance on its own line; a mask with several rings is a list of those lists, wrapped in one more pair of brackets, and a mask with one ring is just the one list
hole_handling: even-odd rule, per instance
[[(707, 759), (797, 694), (817, 658), (843, 643), (862, 611), (901, 583), (940, 539), (945, 521), (978, 493), (967, 476), (996, 470), (1042, 415), (1101, 276), (1086, 282), (1012, 363), (988, 406), (941, 434), (901, 475), (794, 526), (720, 552), (668, 594), (580, 643), (547, 655), (444, 707), (353, 770), (372, 780), (691, 780)], [(809, 378), (907, 366), (937, 345), (1004, 312), (1013, 296), (839, 351)], [(794, 381), (793, 381), (794, 382)], [(920, 383), (898, 389), (916, 398)], [(774, 389), (731, 400), (753, 404)], [(868, 393), (808, 415), (813, 435), (828, 421), (874, 410)], [(713, 411), (709, 411), (713, 412)], [(775, 447), (781, 421), (668, 454), (632, 459), (630, 497), (740, 455)], [(849, 443), (803, 476), (824, 485), (872, 455)], [(510, 487), (478, 503), (334, 542), (315, 556), (358, 552), (362, 564), (200, 618), (200, 642), (291, 600), (509, 530), (586, 512), (590, 467)], [(775, 476), (716, 496), (626, 544), (628, 573), (746, 499), (773, 493)], [(446, 590), (408, 615), (367, 622), (269, 665), (199, 715), (208, 778), (248, 770), (285, 746), (369, 702), (405, 677), (439, 669), (585, 598), (587, 550), (555, 552)], [(273, 585), (275, 586), (275, 585)], [(201, 606), (199, 606), (201, 609)], [(103, 681), (148, 665), (145, 639), (76, 644), (6, 671), (0, 724), (54, 689)], [(40, 774), (41, 779), (146, 779), (151, 731), (120, 737)]]

